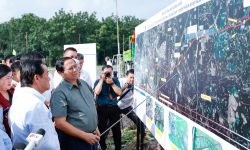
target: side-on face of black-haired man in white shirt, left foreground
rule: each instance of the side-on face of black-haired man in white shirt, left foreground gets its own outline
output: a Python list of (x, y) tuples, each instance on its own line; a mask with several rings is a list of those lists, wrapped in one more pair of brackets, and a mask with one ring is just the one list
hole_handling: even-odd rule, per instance
[(50, 89), (50, 77), (49, 77), (49, 70), (47, 68), (46, 65), (42, 64), (42, 68), (44, 70), (43, 74), (41, 76), (37, 76), (37, 84), (39, 85), (39, 91), (41, 91), (41, 93), (47, 91)]

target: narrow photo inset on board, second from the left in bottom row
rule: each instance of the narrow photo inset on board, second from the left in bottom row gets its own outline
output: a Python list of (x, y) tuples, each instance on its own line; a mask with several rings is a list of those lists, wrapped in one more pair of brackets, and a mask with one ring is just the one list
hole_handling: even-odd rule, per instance
[(155, 102), (155, 125), (163, 133), (164, 131), (164, 108)]

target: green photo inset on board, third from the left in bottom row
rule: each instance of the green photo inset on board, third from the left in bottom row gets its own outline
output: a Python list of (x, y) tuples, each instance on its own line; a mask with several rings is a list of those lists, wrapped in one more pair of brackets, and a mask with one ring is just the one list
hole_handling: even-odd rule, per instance
[(169, 112), (169, 140), (180, 150), (188, 149), (188, 125), (185, 120)]

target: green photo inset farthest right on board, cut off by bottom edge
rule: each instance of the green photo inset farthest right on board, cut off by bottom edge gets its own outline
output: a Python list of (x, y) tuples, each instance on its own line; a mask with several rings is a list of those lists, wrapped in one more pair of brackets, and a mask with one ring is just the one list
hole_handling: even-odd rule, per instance
[(222, 150), (219, 142), (195, 127), (193, 127), (193, 135), (193, 150)]

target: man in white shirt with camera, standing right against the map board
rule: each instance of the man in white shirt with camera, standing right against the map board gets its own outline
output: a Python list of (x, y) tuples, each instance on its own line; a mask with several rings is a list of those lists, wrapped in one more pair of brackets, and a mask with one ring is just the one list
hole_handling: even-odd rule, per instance
[[(118, 97), (118, 107), (120, 108), (121, 114), (127, 114), (133, 109), (133, 107), (131, 106), (131, 102), (133, 100), (134, 95), (134, 69), (130, 69), (129, 71), (127, 71), (126, 76), (127, 78), (119, 79), (122, 87), (122, 94), (121, 97)], [(127, 117), (130, 118), (137, 125), (138, 119), (134, 111), (128, 114)], [(146, 134), (144, 125), (142, 125), (142, 128), (143, 131), (141, 135), (147, 139), (148, 137), (145, 137)], [(137, 127), (137, 130), (138, 132), (140, 132), (140, 127)]]

